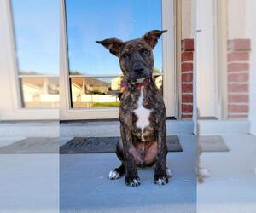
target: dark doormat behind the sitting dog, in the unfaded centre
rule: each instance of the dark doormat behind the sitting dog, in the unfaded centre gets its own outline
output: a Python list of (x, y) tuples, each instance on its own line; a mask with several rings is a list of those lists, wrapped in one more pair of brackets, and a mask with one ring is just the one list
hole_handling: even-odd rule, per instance
[[(61, 154), (68, 153), (115, 153), (119, 137), (74, 137), (60, 147)], [(168, 152), (182, 152), (176, 135), (167, 136)]]

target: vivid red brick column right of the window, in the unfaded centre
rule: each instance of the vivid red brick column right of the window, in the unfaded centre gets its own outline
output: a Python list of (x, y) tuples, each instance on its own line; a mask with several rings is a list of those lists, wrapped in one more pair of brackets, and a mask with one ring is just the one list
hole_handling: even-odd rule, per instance
[(193, 116), (193, 52), (194, 40), (184, 39), (181, 55), (182, 119), (191, 119)]

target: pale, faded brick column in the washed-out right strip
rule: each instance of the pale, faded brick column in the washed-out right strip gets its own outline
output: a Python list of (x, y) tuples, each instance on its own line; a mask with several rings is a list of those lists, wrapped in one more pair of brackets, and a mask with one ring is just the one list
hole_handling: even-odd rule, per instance
[(228, 41), (228, 118), (247, 118), (249, 111), (250, 39)]

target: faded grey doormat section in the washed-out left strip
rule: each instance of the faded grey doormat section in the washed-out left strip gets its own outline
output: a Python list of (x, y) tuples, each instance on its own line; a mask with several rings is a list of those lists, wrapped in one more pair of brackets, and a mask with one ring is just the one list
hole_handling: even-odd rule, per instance
[(0, 154), (59, 153), (59, 138), (28, 137), (0, 147)]

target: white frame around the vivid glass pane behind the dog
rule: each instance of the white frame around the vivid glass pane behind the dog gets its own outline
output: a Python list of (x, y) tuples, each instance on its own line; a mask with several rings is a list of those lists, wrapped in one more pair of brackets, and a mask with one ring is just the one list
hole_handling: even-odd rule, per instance
[[(167, 116), (177, 117), (176, 85), (176, 19), (175, 0), (162, 0), (162, 27), (168, 32), (163, 34), (163, 92)], [(118, 118), (119, 107), (72, 109), (69, 89), (69, 70), (67, 56), (67, 26), (65, 0), (61, 0), (61, 58), (60, 58), (60, 118), (61, 120)], [(168, 95), (166, 95), (168, 94)]]

